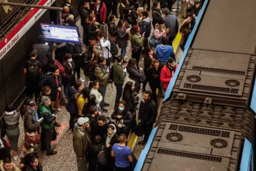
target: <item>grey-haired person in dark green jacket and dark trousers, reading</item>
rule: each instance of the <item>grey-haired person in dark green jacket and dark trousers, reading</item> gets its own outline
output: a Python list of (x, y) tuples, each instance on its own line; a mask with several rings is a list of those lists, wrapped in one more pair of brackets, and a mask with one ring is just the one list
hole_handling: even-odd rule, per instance
[(41, 150), (46, 149), (46, 155), (54, 155), (57, 151), (51, 150), (51, 141), (54, 131), (54, 123), (56, 120), (55, 113), (52, 113), (49, 106), (51, 105), (51, 100), (48, 96), (42, 96), (42, 103), (38, 106), (38, 117), (39, 119), (43, 118), (40, 126), (42, 128), (41, 133)]

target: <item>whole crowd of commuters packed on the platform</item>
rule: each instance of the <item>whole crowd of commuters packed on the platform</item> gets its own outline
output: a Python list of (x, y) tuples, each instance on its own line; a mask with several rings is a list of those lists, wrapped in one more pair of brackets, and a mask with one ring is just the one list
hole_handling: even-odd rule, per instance
[[(60, 105), (70, 113), (68, 131), (73, 133), (78, 171), (132, 171), (137, 159), (126, 146), (127, 138), (135, 132), (144, 136), (139, 144), (147, 143), (158, 115), (157, 93), (163, 96), (178, 66), (172, 42), (179, 32), (184, 50), (203, 0), (178, 0), (178, 8), (172, 7), (174, 3), (153, 2), (149, 16), (150, 0), (82, 0), (77, 10), (83, 44), (66, 43), (55, 50), (55, 58), (44, 36), (39, 36), (24, 65), (27, 98), (19, 112), (7, 105), (2, 118), (0, 171), (42, 171), (38, 151), (46, 151), (46, 156), (57, 154), (51, 141), (58, 135), (55, 127), (60, 127)], [(64, 0), (62, 7), (63, 25), (77, 27), (71, 0)], [(180, 30), (175, 13), (186, 19)], [(128, 41), (131, 49), (127, 49)], [(125, 61), (127, 50), (132, 55)], [(147, 82), (150, 90), (146, 90)], [(104, 114), (110, 106), (105, 100), (109, 84), (116, 87), (111, 118)], [(140, 91), (144, 93), (141, 100)], [(20, 116), (25, 130), (22, 157), (18, 156)], [(12, 159), (19, 160), (20, 166)]]

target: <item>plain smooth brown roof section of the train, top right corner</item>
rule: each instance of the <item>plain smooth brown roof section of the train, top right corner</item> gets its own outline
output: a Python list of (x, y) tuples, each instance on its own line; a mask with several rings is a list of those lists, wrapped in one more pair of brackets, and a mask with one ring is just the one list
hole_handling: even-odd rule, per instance
[(192, 48), (255, 54), (255, 7), (256, 0), (210, 0)]

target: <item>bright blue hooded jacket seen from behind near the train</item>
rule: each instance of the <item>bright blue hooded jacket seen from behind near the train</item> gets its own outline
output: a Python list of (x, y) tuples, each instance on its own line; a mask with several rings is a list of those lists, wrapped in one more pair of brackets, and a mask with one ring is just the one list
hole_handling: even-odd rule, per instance
[(155, 52), (157, 54), (158, 61), (163, 63), (166, 63), (168, 59), (174, 55), (173, 48), (170, 45), (164, 46), (163, 44), (158, 44)]

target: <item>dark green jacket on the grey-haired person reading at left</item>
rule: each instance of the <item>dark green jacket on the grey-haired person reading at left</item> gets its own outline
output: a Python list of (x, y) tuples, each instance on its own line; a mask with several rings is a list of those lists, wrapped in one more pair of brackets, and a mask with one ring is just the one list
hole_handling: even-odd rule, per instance
[(40, 126), (45, 129), (45, 130), (51, 130), (54, 128), (54, 123), (53, 121), (56, 119), (55, 116), (53, 116), (51, 109), (49, 106), (46, 106), (42, 103), (39, 104), (38, 106), (38, 118), (41, 119), (42, 117), (44, 118), (42, 122), (40, 123)]

